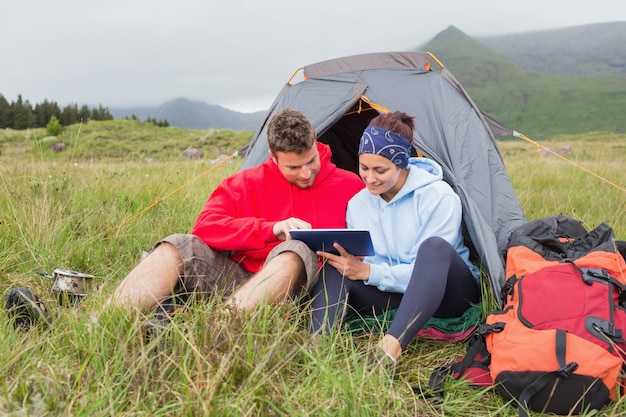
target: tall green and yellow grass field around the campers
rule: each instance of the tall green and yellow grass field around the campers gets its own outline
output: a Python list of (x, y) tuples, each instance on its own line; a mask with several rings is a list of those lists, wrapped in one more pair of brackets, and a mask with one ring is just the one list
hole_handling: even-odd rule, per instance
[[(43, 132), (0, 132), (0, 293), (28, 287), (57, 314), (48, 328), (18, 332), (0, 312), (0, 415), (517, 415), (500, 397), (463, 383), (450, 384), (441, 403), (413, 393), (463, 345), (417, 340), (390, 381), (359, 362), (376, 335), (338, 332), (312, 347), (306, 311), (292, 304), (246, 317), (199, 304), (149, 343), (139, 313), (104, 311), (92, 324), (90, 313), (143, 250), (190, 229), (217, 182), (240, 164), (212, 161), (250, 136), (127, 123), (136, 122), (72, 127), (62, 153), (49, 149)], [(604, 221), (626, 239), (626, 135), (544, 145), (570, 147), (563, 156), (571, 162), (520, 140), (500, 143), (528, 218), (560, 213), (588, 228)], [(205, 153), (202, 160), (180, 156), (191, 146)], [(51, 281), (37, 273), (55, 268), (93, 274), (97, 288), (78, 308), (60, 307)], [(602, 415), (625, 413), (620, 400)]]

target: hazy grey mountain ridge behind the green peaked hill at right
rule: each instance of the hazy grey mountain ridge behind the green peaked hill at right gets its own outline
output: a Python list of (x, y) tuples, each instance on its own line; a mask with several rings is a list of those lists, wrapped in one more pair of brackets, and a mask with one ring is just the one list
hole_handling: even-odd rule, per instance
[(626, 78), (626, 22), (475, 39), (532, 71)]

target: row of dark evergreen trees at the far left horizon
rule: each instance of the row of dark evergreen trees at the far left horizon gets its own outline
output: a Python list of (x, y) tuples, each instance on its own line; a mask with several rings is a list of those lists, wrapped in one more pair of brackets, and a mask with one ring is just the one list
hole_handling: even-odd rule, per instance
[(77, 104), (68, 104), (61, 108), (54, 101), (44, 100), (43, 103), (33, 106), (28, 100), (24, 100), (21, 94), (17, 96), (17, 100), (10, 103), (0, 94), (0, 129), (45, 128), (53, 116), (62, 126), (86, 123), (89, 120), (113, 120), (109, 109), (102, 105), (89, 108), (87, 105), (78, 107)]

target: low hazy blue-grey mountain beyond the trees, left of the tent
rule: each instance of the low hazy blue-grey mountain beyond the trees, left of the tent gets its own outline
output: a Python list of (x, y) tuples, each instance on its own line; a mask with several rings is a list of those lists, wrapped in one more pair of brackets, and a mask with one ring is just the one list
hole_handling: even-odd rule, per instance
[(130, 118), (133, 115), (139, 120), (153, 118), (167, 120), (171, 126), (186, 129), (230, 129), (255, 131), (266, 112), (240, 113), (221, 106), (206, 104), (199, 101), (178, 98), (167, 101), (157, 107), (111, 108), (116, 119)]

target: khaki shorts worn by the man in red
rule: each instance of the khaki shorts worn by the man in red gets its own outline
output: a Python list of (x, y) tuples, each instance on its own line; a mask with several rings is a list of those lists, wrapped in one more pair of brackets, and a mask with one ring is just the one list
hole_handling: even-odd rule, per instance
[[(214, 251), (195, 235), (173, 234), (157, 242), (155, 247), (163, 242), (173, 245), (183, 261), (183, 275), (174, 288), (175, 294), (193, 292), (210, 296), (218, 293), (225, 297), (253, 275), (229, 258), (228, 253)], [(308, 293), (319, 277), (317, 256), (304, 243), (287, 240), (272, 249), (265, 263), (283, 252), (293, 252), (302, 259), (306, 271), (302, 290)]]

